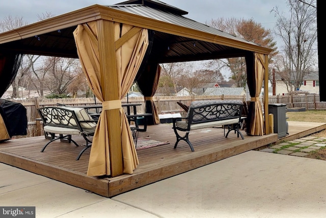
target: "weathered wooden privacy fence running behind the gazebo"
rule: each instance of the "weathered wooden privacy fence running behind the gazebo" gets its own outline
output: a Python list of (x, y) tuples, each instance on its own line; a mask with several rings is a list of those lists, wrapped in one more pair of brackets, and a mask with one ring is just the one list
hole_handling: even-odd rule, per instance
[[(155, 101), (158, 113), (181, 113), (185, 115), (184, 110), (177, 104), (181, 102), (185, 105), (190, 105), (192, 101), (200, 100), (240, 100), (246, 101), (246, 96), (155, 96), (153, 97)], [(261, 98), (261, 101), (263, 99)], [(94, 98), (75, 98), (75, 99), (26, 99), (26, 100), (15, 100), (15, 102), (21, 103), (26, 108), (26, 114), (28, 118), (28, 135), (26, 137), (40, 136), (43, 135), (42, 126), (37, 113), (37, 108), (46, 106), (57, 106), (57, 103), (65, 104), (68, 106), (78, 106), (78, 105), (95, 105), (100, 104), (100, 101)], [(137, 113), (145, 112), (145, 103), (143, 97), (129, 97), (122, 99), (122, 103), (139, 103), (137, 106)], [(326, 102), (319, 102), (319, 95), (287, 95), (287, 96), (269, 96), (268, 104), (286, 104), (287, 108), (293, 107), (304, 107), (306, 109), (321, 110), (326, 109)], [(93, 109), (96, 110), (96, 109)], [(95, 112), (95, 111), (94, 111)], [(96, 111), (100, 112), (100, 111)]]

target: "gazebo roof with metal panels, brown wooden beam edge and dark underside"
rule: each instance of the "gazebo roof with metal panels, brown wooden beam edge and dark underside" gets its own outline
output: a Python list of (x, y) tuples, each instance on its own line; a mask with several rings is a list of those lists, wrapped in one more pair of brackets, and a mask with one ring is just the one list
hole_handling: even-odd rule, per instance
[[(143, 2), (144, 4), (139, 4)], [(136, 4), (137, 3), (137, 4)], [(0, 51), (77, 58), (73, 31), (81, 23), (106, 19), (153, 30), (158, 63), (244, 56), (271, 49), (188, 19), (187, 13), (160, 1), (93, 5), (0, 34)]]

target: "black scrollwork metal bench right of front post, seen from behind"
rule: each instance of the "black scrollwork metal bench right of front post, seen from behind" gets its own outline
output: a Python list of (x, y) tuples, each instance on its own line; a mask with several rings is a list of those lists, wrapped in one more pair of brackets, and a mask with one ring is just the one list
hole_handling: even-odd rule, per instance
[[(242, 121), (242, 107), (243, 103), (241, 101), (215, 100), (192, 102), (186, 117), (182, 117), (181, 121), (173, 119), (173, 130), (177, 137), (174, 148), (177, 147), (180, 140), (184, 140), (194, 151), (194, 147), (189, 141), (190, 131), (216, 126), (228, 127), (226, 135), (224, 132), (226, 138), (234, 130), (237, 133), (237, 137), (240, 135), (244, 139), (239, 131)], [(178, 131), (186, 133), (184, 136), (180, 136)]]

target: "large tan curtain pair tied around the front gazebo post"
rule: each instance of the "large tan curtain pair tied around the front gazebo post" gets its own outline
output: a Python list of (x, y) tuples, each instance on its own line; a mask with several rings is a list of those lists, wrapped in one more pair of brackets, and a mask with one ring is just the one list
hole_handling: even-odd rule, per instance
[[(132, 174), (139, 164), (137, 152), (133, 143), (128, 120), (121, 107), (121, 99), (130, 89), (135, 75), (142, 63), (142, 59), (148, 46), (147, 29), (141, 29), (126, 24), (114, 23), (116, 64), (119, 85), (120, 100), (108, 101), (102, 95), (104, 87), (101, 87), (101, 72), (98, 49), (97, 22), (92, 21), (79, 24), (74, 31), (77, 52), (82, 63), (83, 70), (88, 79), (89, 86), (94, 95), (102, 102), (103, 111), (119, 108), (121, 117), (121, 149), (123, 155), (123, 173)], [(130, 31), (129, 31), (130, 30)], [(110, 31), (110, 29), (101, 29)], [(123, 38), (123, 36), (125, 37)], [(105, 72), (108, 75), (111, 72)], [(109, 77), (110, 78), (110, 77)], [(101, 113), (96, 127), (91, 147), (88, 176), (111, 175), (110, 152), (108, 140), (108, 127), (106, 113)], [(110, 120), (109, 120), (110, 121)]]

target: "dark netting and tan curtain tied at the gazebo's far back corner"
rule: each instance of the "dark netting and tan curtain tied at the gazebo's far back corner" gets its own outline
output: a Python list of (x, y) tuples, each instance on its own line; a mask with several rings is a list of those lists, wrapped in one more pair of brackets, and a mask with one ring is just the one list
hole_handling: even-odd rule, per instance
[(157, 106), (152, 97), (155, 95), (158, 86), (160, 72), (161, 66), (159, 64), (149, 64), (137, 80), (137, 85), (144, 95), (145, 112), (152, 114), (152, 120), (148, 120), (148, 124), (159, 124)]

